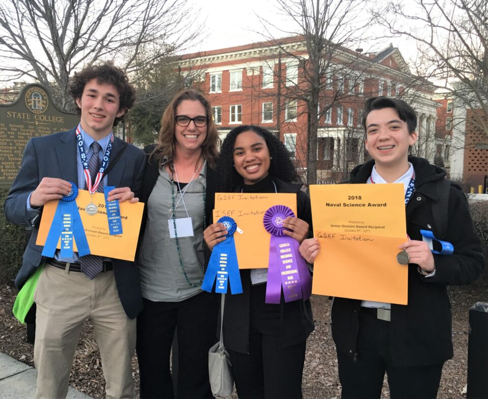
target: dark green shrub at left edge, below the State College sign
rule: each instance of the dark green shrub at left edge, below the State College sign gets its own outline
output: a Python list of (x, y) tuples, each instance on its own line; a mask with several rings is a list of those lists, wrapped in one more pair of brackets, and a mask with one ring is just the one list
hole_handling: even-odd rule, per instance
[(25, 229), (9, 222), (4, 215), (4, 201), (8, 189), (0, 189), (0, 283), (7, 283), (15, 278), (22, 264)]

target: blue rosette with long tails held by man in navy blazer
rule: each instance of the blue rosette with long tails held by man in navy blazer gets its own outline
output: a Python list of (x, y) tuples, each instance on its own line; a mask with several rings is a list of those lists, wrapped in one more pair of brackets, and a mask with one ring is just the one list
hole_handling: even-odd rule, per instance
[(73, 238), (76, 241), (79, 256), (88, 255), (90, 248), (86, 240), (85, 230), (81, 223), (80, 212), (76, 204), (78, 187), (71, 182), (71, 192), (65, 195), (57, 204), (49, 233), (47, 234), (42, 256), (52, 258), (56, 251), (57, 241), (61, 236), (61, 257), (73, 258)]

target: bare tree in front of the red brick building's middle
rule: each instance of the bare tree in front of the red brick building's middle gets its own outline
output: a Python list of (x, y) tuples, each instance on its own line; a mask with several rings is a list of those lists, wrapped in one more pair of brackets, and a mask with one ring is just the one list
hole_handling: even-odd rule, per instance
[[(360, 52), (347, 50), (360, 47), (370, 25), (367, 1), (357, 0), (276, 0), (277, 10), (291, 23), (280, 29), (261, 18), (267, 39), (278, 49), (272, 58), (279, 59), (274, 70), (278, 83), (278, 114), (282, 107), (296, 102), (297, 115), (307, 114), (307, 182), (317, 181), (317, 131), (319, 120), (340, 100), (356, 97), (354, 87), (361, 84), (361, 75), (369, 64), (362, 65)], [(276, 39), (270, 31), (278, 30), (284, 37), (302, 39), (302, 47), (289, 45), (287, 39)], [(269, 54), (268, 54), (269, 56)], [(295, 64), (299, 74), (281, 68), (281, 60)], [(348, 86), (345, 86), (346, 80)], [(319, 107), (320, 104), (320, 107)], [(278, 129), (280, 125), (278, 124)]]

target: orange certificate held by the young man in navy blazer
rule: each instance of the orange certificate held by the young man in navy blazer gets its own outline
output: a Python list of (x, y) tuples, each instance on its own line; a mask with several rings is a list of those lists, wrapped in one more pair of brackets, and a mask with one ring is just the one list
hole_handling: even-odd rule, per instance
[[(46, 242), (47, 233), (51, 227), (58, 202), (57, 200), (49, 201), (44, 205), (36, 241), (38, 245), (44, 245)], [(90, 203), (90, 195), (86, 190), (79, 190), (76, 204), (78, 205), (81, 222), (90, 247), (90, 254), (133, 261), (136, 254), (144, 204), (142, 202), (131, 204), (127, 201), (120, 203), (123, 233), (110, 235), (103, 193), (95, 193), (93, 202), (98, 205), (98, 212), (90, 216), (85, 212), (85, 206)], [(57, 248), (61, 248), (60, 241), (57, 243)], [(75, 240), (73, 240), (73, 250), (77, 251)]]

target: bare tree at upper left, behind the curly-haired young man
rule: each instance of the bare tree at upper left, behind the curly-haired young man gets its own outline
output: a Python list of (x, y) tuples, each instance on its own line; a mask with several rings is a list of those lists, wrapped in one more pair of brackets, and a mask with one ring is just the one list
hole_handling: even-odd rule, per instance
[(100, 59), (149, 70), (196, 38), (189, 13), (184, 0), (4, 0), (0, 81), (36, 80), (69, 109), (74, 71)]

